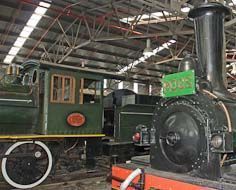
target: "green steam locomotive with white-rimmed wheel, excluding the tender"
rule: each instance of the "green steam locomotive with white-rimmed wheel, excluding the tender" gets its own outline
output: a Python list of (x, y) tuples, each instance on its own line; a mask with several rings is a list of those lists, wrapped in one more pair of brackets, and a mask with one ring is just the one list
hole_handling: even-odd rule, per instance
[(103, 76), (28, 61), (1, 68), (0, 79), (1, 170), (10, 185), (43, 182), (58, 152), (85, 146), (93, 159), (104, 136)]

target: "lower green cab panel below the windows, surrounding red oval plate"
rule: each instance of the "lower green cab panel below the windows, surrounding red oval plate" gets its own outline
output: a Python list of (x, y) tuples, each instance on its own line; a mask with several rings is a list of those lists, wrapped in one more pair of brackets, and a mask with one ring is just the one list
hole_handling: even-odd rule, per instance
[[(67, 123), (70, 113), (78, 112), (85, 116), (85, 123), (72, 127)], [(96, 134), (101, 133), (102, 108), (100, 105), (50, 105), (48, 109), (47, 134)]]

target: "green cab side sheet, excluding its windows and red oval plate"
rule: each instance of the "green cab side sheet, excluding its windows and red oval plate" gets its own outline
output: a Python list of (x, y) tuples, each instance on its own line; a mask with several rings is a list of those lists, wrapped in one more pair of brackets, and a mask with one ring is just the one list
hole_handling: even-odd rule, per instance
[[(50, 80), (53, 74), (72, 76), (76, 80), (75, 104), (52, 103), (50, 102), (51, 85)], [(102, 132), (103, 102), (102, 95), (99, 103), (79, 104), (79, 80), (81, 78), (103, 81), (103, 77), (96, 74), (74, 72), (69, 70), (50, 69), (45, 75), (45, 94), (43, 108), (43, 120), (39, 133), (42, 134), (97, 134)], [(102, 84), (101, 84), (102, 88)], [(101, 89), (102, 91), (102, 89)], [(45, 113), (47, 112), (47, 113)], [(72, 127), (67, 123), (67, 116), (78, 112), (85, 116), (86, 122), (80, 127)], [(46, 118), (47, 117), (47, 118)]]

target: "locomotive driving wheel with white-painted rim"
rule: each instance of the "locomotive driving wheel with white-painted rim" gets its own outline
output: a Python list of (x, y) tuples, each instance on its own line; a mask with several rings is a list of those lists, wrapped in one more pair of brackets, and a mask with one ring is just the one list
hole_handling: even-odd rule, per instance
[(52, 154), (40, 141), (16, 142), (2, 159), (2, 174), (11, 186), (33, 188), (42, 183), (52, 168)]

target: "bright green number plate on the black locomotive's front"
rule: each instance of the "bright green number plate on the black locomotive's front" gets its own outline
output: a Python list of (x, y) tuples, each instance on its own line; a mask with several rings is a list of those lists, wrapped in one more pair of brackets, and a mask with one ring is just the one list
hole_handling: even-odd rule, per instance
[(175, 97), (196, 93), (194, 70), (165, 75), (162, 78), (162, 96)]

